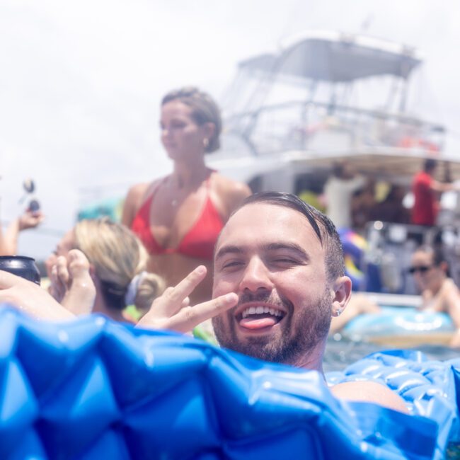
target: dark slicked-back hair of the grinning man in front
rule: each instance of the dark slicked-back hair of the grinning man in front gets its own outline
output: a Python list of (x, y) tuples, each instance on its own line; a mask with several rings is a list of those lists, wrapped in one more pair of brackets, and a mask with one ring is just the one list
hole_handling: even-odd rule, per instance
[[(318, 236), (321, 246), (326, 250), (326, 271), (328, 280), (333, 281), (343, 276), (345, 266), (343, 262), (343, 248), (337, 230), (332, 221), (318, 209), (302, 201), (296, 195), (282, 192), (258, 192), (250, 195), (241, 203), (238, 209), (253, 203), (268, 203), (269, 205), (284, 206), (303, 214)], [(233, 214), (238, 211), (236, 209)]]

